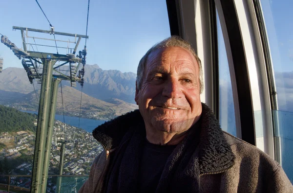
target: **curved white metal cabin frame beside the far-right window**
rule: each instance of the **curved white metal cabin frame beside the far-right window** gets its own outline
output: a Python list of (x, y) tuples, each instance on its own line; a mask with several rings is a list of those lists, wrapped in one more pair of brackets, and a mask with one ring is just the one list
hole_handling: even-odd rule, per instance
[[(256, 146), (274, 157), (272, 111), (263, 46), (252, 0), (234, 0), (251, 85)], [(256, 117), (260, 112), (261, 117)]]

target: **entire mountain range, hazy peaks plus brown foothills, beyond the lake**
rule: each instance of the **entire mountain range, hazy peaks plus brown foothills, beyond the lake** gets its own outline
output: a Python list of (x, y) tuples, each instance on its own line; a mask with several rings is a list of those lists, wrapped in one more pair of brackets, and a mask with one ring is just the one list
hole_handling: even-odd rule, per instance
[[(40, 67), (42, 68), (42, 66)], [(66, 67), (60, 67), (64, 70)], [(66, 73), (66, 72), (65, 72)], [(68, 72), (67, 72), (68, 73)], [(103, 70), (97, 64), (86, 65), (84, 87), (70, 87), (62, 81), (64, 114), (108, 120), (137, 108), (134, 102), (136, 74), (119, 70)], [(35, 88), (35, 89), (34, 89)], [(0, 74), (0, 104), (10, 104), (22, 110), (38, 110), (41, 85), (31, 85), (21, 68), (6, 68)], [(36, 93), (35, 93), (36, 92)], [(61, 88), (57, 96), (56, 113), (63, 114)]]

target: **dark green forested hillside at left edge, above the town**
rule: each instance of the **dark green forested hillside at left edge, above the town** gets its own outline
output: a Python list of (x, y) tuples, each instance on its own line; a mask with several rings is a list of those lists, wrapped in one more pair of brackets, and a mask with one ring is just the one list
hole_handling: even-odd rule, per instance
[(36, 131), (34, 125), (38, 118), (36, 114), (24, 113), (11, 107), (0, 105), (0, 131), (16, 132), (16, 131)]

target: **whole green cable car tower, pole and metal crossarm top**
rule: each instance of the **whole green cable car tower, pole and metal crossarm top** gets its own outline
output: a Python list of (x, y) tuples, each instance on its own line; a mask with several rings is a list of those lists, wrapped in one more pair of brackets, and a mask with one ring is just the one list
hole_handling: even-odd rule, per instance
[[(50, 30), (38, 30), (15, 26), (13, 26), (13, 29), (21, 31), (23, 49), (16, 47), (16, 45), (12, 43), (5, 35), (1, 36), (1, 42), (5, 44), (7, 47), (9, 47), (19, 59), (22, 59), (21, 63), (24, 70), (26, 70), (27, 72), (27, 76), (30, 83), (33, 84), (34, 79), (37, 79), (41, 83), (41, 94), (39, 102), (38, 125), (36, 131), (31, 192), (45, 193), (52, 144), (53, 124), (55, 120), (55, 108), (57, 101), (58, 85), (61, 82), (61, 80), (70, 81), (72, 87), (76, 86), (77, 81), (81, 83), (82, 86), (84, 85), (83, 76), (86, 46), (84, 46), (83, 51), (79, 51), (78, 55), (75, 55), (75, 53), (77, 51), (81, 38), (88, 38), (88, 36), (55, 32), (54, 27), (51, 25)], [(29, 36), (29, 32), (54, 35), (54, 39)], [(71, 37), (75, 40), (57, 40), (55, 38), (55, 35), (66, 36), (67, 39)], [(26, 41), (29, 38), (34, 40), (34, 44), (28, 43), (28, 41)], [(37, 45), (44, 47), (55, 47), (51, 45), (36, 44), (35, 39), (42, 39), (42, 41), (55, 41), (57, 53), (29, 51), (27, 49), (28, 46), (35, 46), (36, 48)], [(74, 43), (75, 47), (58, 47), (56, 43), (68, 41), (69, 43)], [(59, 54), (58, 48), (67, 49), (68, 51), (71, 50), (71, 52), (68, 52), (67, 54)], [(59, 61), (63, 63), (55, 65), (57, 61), (58, 63)], [(83, 68), (79, 71), (79, 75), (76, 76), (77, 70), (79, 69), (79, 66), (81, 64), (83, 64)], [(40, 68), (41, 65), (42, 68)], [(65, 71), (64, 73), (60, 70), (60, 67), (62, 66), (62, 71)], [(64, 68), (67, 68), (67, 70), (64, 70)]]

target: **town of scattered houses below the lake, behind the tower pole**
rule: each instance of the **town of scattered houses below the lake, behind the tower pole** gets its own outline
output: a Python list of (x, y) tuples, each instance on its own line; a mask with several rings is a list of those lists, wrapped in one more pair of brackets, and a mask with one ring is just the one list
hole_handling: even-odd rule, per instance
[[(56, 190), (57, 178), (50, 175), (59, 175), (61, 142), (65, 144), (63, 175), (88, 175), (94, 158), (103, 150), (102, 145), (92, 137), (91, 133), (60, 121), (54, 123), (52, 139), (47, 192)], [(16, 162), (9, 174), (32, 175), (35, 134), (31, 131), (2, 132), (0, 143), (5, 145), (0, 149), (0, 160), (6, 159), (9, 163)], [(5, 167), (3, 161), (2, 166)], [(12, 177), (10, 181), (12, 186), (27, 189), (30, 188), (30, 183), (30, 177)], [(72, 183), (74, 186), (76, 181), (72, 180)]]

